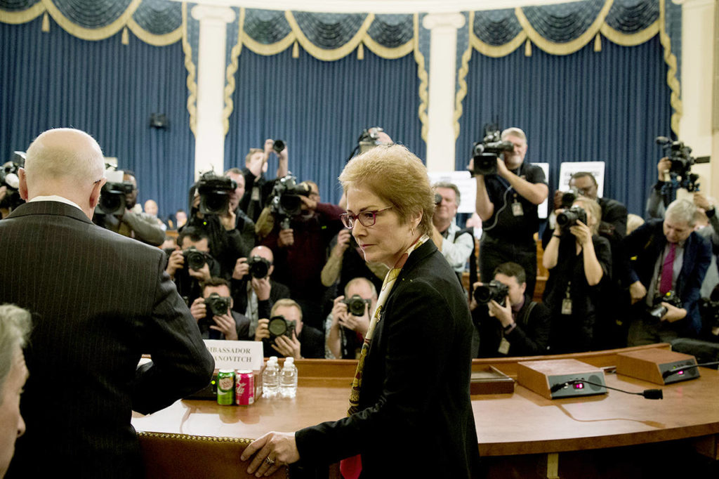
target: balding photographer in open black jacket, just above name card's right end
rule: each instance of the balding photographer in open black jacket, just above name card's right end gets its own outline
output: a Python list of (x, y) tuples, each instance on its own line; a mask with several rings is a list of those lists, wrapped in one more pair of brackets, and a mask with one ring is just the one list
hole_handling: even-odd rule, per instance
[(249, 335), (253, 336), (260, 318), (269, 318), (275, 301), (290, 297), (287, 286), (272, 279), (275, 270), (272, 250), (257, 246), (249, 257), (241, 257), (232, 272), (234, 309), (249, 319)]

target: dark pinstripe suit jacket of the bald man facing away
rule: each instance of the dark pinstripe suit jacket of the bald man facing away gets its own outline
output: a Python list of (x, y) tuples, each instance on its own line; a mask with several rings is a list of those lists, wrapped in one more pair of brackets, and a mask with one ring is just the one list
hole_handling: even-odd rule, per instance
[[(30, 372), (7, 477), (134, 477), (131, 411), (209, 383), (214, 361), (164, 272), (165, 253), (56, 201), (0, 221), (0, 303), (32, 313)], [(137, 368), (140, 355), (153, 362)]]

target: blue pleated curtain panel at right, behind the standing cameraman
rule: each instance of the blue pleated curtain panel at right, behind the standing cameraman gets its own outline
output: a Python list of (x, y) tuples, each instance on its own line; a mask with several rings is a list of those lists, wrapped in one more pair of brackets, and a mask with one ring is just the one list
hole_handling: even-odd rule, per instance
[(567, 56), (523, 49), (503, 58), (476, 51), (467, 74), (467, 96), (457, 140), (457, 169), (464, 169), (483, 125), (521, 127), (526, 160), (550, 165), (550, 190), (564, 161), (605, 161), (604, 196), (644, 216), (644, 201), (656, 182), (662, 156), (654, 142), (668, 136), (667, 65), (659, 38), (637, 47), (603, 42)]

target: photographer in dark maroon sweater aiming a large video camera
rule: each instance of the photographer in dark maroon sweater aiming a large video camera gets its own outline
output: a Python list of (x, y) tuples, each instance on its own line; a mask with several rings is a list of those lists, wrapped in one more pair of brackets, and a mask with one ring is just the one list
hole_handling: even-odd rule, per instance
[[(280, 185), (291, 185), (293, 181), (280, 180)], [(321, 283), (321, 272), (327, 260), (327, 250), (334, 235), (342, 229), (339, 215), (344, 210), (329, 203), (321, 203), (319, 188), (315, 183), (306, 181), (295, 186), (306, 189), (306, 194), (295, 194), (293, 201), (298, 202), (296, 214), (282, 214), (275, 210), (267, 217), (272, 221), (270, 232), (260, 239), (275, 255), (275, 279), (290, 288), (292, 298), (302, 306), (305, 322), (316, 329), (322, 329), (324, 314), (321, 309), (325, 288)], [(281, 189), (281, 188), (280, 188)], [(278, 193), (278, 200), (286, 198)], [(285, 201), (275, 201), (275, 204)], [(263, 222), (257, 223), (258, 229)]]

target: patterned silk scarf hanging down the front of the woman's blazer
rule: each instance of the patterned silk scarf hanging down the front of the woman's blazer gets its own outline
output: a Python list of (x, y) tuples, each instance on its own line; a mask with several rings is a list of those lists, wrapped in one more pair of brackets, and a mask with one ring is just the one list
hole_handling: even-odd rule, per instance
[[(349, 393), (349, 409), (347, 410), (347, 416), (352, 416), (352, 414), (359, 410), (359, 390), (362, 388), (362, 370), (365, 369), (365, 358), (367, 357), (367, 352), (370, 351), (370, 342), (372, 342), (372, 337), (375, 335), (377, 321), (380, 320), (380, 314), (385, 306), (387, 297), (390, 296), (390, 291), (392, 291), (392, 288), (395, 285), (395, 280), (397, 280), (400, 275), (400, 271), (407, 262), (409, 255), (427, 241), (429, 241), (429, 237), (424, 234), (420, 239), (414, 242), (413, 245), (406, 250), (406, 252), (404, 252), (397, 263), (395, 263), (394, 268), (389, 270), (385, 276), (385, 281), (382, 283), (382, 291), (380, 291), (380, 297), (377, 298), (375, 313), (372, 314), (372, 319), (370, 320), (370, 328), (367, 329), (365, 342), (362, 344), (362, 352), (359, 353), (357, 372), (354, 373), (352, 391)], [(339, 463), (339, 470), (342, 473), (342, 477), (345, 479), (357, 479), (359, 477), (359, 473), (362, 472), (362, 460), (359, 455), (343, 459)]]

